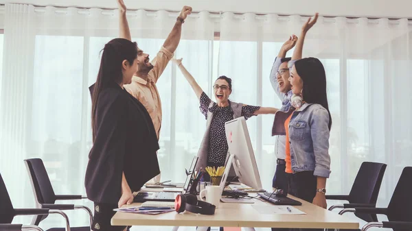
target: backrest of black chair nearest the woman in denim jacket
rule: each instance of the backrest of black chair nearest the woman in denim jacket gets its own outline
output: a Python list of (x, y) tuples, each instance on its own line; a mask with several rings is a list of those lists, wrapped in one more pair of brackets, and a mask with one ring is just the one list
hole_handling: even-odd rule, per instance
[[(387, 165), (377, 162), (363, 162), (349, 193), (349, 202), (354, 204), (376, 204)], [(378, 221), (376, 215), (358, 214), (364, 221)]]

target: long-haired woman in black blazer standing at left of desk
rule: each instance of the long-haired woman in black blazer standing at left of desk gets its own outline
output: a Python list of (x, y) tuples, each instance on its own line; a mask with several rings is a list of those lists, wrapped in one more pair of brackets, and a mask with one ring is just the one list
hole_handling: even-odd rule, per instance
[(136, 72), (137, 51), (136, 42), (123, 38), (108, 42), (98, 78), (89, 88), (93, 147), (84, 184), (95, 204), (92, 230), (96, 231), (124, 230), (124, 226), (111, 226), (113, 208), (133, 202), (132, 192), (160, 173), (152, 120), (123, 88)]

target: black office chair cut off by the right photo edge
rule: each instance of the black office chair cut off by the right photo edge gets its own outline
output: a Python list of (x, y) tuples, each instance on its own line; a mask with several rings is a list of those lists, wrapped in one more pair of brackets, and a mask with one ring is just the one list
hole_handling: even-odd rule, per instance
[(345, 208), (339, 212), (356, 212), (374, 215), (387, 215), (389, 221), (370, 222), (363, 226), (362, 231), (372, 227), (391, 228), (394, 231), (412, 230), (412, 167), (405, 167), (387, 208)]

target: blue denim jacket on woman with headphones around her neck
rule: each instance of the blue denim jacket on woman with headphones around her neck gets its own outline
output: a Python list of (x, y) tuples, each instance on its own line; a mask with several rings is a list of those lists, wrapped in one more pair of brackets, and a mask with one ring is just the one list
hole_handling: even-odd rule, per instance
[(293, 112), (289, 123), (292, 171), (314, 171), (329, 178), (329, 114), (320, 104), (304, 104)]

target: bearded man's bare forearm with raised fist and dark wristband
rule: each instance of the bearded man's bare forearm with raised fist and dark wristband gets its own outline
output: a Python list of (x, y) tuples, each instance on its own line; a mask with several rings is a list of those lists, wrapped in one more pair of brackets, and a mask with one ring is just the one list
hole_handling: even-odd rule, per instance
[(168, 51), (174, 53), (176, 51), (177, 46), (179, 45), (181, 34), (182, 34), (182, 24), (187, 18), (187, 14), (192, 13), (192, 8), (190, 6), (184, 6), (181, 13), (176, 19), (176, 23), (174, 23), (174, 27), (172, 32), (170, 32), (168, 38), (166, 38), (165, 43), (163, 43), (163, 47), (168, 49)]

